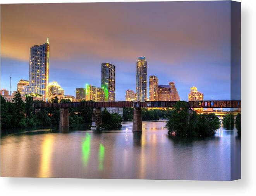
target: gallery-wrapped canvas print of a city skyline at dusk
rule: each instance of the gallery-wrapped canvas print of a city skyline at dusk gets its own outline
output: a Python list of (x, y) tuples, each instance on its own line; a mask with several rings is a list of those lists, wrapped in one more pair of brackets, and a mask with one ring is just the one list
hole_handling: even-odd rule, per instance
[(1, 5), (1, 177), (241, 178), (241, 3)]

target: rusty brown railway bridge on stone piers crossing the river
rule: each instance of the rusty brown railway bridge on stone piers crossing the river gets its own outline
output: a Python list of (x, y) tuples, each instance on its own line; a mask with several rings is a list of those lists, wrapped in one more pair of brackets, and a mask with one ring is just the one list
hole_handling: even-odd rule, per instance
[[(141, 108), (142, 107), (162, 107), (172, 108), (177, 101), (114, 101), (114, 102), (67, 102), (67, 103), (49, 103), (38, 102), (34, 103), (34, 108), (41, 109), (44, 107), (59, 107), (60, 108), (60, 127), (69, 126), (69, 107), (92, 107), (93, 119), (91, 130), (100, 129), (102, 126), (101, 107), (133, 107), (133, 124), (132, 132), (142, 131)], [(238, 108), (241, 107), (241, 101), (189, 101), (188, 108)]]

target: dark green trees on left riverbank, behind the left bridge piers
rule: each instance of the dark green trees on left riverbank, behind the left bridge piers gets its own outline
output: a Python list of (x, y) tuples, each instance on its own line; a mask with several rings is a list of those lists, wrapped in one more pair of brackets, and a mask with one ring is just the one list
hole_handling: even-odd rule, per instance
[[(57, 97), (51, 102), (57, 103)], [(26, 96), (22, 101), (20, 92), (16, 92), (12, 102), (7, 102), (1, 95), (1, 133), (2, 130), (9, 128), (27, 128), (27, 127), (49, 127), (58, 126), (60, 119), (60, 109), (54, 107), (41, 108), (35, 111), (33, 97)], [(69, 99), (61, 99), (60, 102), (71, 102)], [(87, 101), (83, 101), (87, 102)], [(76, 126), (77, 124), (91, 124), (93, 116), (93, 108), (69, 108), (69, 124)], [(102, 111), (103, 128), (113, 129), (120, 128), (122, 118), (118, 114), (110, 114), (107, 110)]]

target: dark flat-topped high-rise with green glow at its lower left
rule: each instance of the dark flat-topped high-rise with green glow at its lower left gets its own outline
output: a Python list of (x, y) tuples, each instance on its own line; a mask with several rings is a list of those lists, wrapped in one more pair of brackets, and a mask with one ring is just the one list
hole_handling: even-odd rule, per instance
[(101, 63), (101, 88), (105, 101), (115, 101), (115, 65)]

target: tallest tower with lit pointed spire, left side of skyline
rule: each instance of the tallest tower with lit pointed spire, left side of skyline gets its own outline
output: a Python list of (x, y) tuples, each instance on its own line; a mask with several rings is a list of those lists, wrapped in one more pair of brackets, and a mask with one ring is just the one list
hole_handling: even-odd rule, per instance
[(30, 48), (29, 93), (42, 95), (44, 101), (48, 101), (49, 52), (48, 37), (45, 44)]

